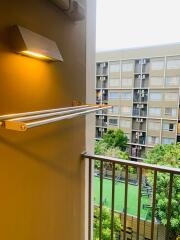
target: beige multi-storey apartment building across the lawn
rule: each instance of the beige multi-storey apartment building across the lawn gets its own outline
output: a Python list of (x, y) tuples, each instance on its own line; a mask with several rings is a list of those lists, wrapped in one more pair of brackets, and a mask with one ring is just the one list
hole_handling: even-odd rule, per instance
[(96, 114), (96, 139), (121, 128), (132, 160), (179, 141), (179, 98), (180, 44), (97, 53), (96, 102), (113, 109)]

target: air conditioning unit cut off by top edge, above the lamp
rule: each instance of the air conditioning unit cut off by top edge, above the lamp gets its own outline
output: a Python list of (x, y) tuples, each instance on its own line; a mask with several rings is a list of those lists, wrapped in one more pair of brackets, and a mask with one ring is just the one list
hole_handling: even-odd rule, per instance
[(85, 18), (85, 8), (79, 0), (50, 0), (55, 3), (72, 21)]

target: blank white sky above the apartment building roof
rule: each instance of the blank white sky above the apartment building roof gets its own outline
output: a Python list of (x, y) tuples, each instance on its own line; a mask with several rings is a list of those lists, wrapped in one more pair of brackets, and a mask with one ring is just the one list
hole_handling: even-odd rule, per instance
[(96, 50), (180, 42), (180, 0), (97, 0)]

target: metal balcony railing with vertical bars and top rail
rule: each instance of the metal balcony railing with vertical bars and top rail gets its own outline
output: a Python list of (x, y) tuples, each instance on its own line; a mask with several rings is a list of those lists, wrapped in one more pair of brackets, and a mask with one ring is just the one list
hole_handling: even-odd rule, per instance
[[(98, 225), (98, 239), (102, 238), (103, 233), (103, 204), (104, 204), (104, 195), (106, 192), (104, 191), (104, 182), (107, 181), (107, 176), (109, 176), (110, 184), (111, 184), (111, 204), (110, 204), (110, 212), (111, 212), (111, 237), (109, 239), (133, 239), (133, 240), (172, 240), (170, 236), (170, 221), (171, 221), (171, 203), (172, 203), (172, 193), (173, 193), (173, 181), (176, 177), (180, 176), (180, 169), (162, 167), (152, 164), (133, 162), (127, 160), (120, 160), (111, 157), (97, 156), (97, 155), (89, 155), (83, 154), (83, 157), (89, 161), (89, 232), (88, 239), (93, 239), (93, 228), (94, 221), (99, 221)], [(98, 171), (94, 172), (93, 170), (93, 162), (94, 160), (98, 161), (100, 167)], [(105, 164), (111, 164), (111, 169), (107, 172), (105, 171)], [(123, 174), (118, 175), (116, 171), (116, 166), (120, 165), (124, 168)], [(136, 169), (136, 174), (132, 176), (129, 173), (130, 168)], [(153, 172), (153, 186), (150, 187), (146, 182), (146, 173), (148, 171)], [(160, 224), (159, 219), (155, 216), (156, 211), (156, 197), (157, 197), (157, 181), (159, 178), (159, 174), (167, 174), (169, 177), (169, 186), (168, 186), (168, 203), (167, 203), (167, 214), (166, 226)], [(96, 174), (96, 178), (98, 177), (99, 181), (99, 204), (92, 204), (94, 199), (92, 186), (94, 174)], [(129, 199), (131, 192), (129, 189), (131, 188), (132, 178), (134, 178), (134, 184), (137, 188), (137, 196), (133, 199), (134, 204), (137, 203), (137, 213), (135, 216), (129, 214)], [(121, 182), (124, 185), (124, 190), (117, 194), (117, 183)], [(163, 191), (163, 189), (162, 189)], [(143, 196), (149, 196), (150, 203), (143, 204)], [(122, 211), (117, 212), (116, 210), (116, 201), (120, 201), (122, 203), (123, 198), (123, 208)], [(149, 219), (142, 218), (142, 206), (149, 209), (150, 217)], [(97, 219), (94, 216), (93, 209), (99, 210), (100, 217)], [(115, 216), (119, 216), (121, 221), (121, 228), (115, 232)], [(97, 230), (97, 229), (96, 229)]]

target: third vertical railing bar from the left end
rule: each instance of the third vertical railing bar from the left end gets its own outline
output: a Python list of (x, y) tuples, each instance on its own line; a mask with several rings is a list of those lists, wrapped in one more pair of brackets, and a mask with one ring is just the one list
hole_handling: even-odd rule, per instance
[(112, 164), (111, 240), (114, 235), (115, 163)]

